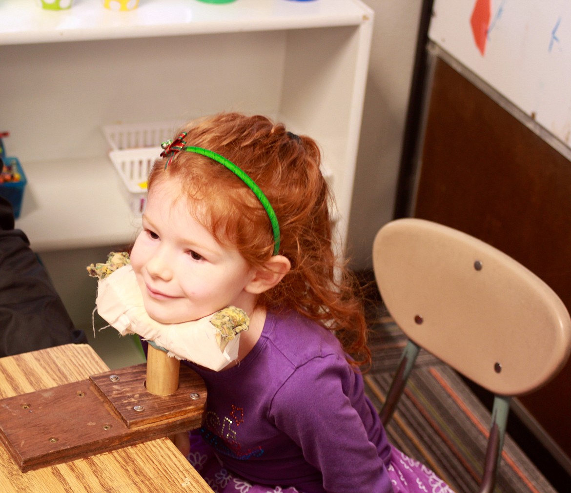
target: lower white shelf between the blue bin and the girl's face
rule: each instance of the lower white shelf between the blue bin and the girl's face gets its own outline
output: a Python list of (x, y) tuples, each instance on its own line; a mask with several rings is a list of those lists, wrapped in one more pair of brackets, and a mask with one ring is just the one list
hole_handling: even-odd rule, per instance
[[(38, 252), (128, 245), (140, 227), (108, 158), (27, 163), (16, 227)], [(62, 197), (63, 195), (63, 197)]]

